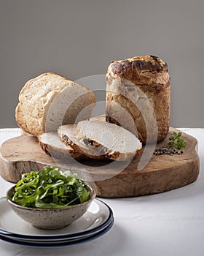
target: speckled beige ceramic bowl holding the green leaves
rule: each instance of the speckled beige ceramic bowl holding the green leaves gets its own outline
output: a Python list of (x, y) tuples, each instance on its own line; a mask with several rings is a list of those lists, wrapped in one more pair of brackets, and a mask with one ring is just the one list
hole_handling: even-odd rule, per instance
[[(34, 227), (54, 230), (58, 228), (63, 228), (70, 225), (79, 217), (87, 211), (88, 206), (95, 198), (94, 190), (87, 186), (90, 191), (90, 198), (85, 203), (80, 203), (75, 206), (68, 206), (66, 208), (29, 208), (24, 206), (19, 206), (17, 203), (12, 202), (8, 199), (9, 205), (15, 211), (15, 213), (26, 222), (29, 222)], [(7, 191), (7, 196), (12, 197), (15, 192), (15, 186)]]

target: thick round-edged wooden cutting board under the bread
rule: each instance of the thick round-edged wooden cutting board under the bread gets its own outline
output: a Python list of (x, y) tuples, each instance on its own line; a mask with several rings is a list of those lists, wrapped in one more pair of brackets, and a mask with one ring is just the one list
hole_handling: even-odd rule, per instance
[[(173, 131), (178, 132), (171, 127), (167, 138), (162, 143), (158, 143), (157, 147), (168, 147), (168, 138)], [(141, 157), (134, 159), (127, 166), (123, 166), (122, 162), (108, 160), (76, 162), (67, 159), (66, 162), (61, 162), (45, 154), (36, 138), (24, 134), (2, 144), (0, 175), (5, 180), (16, 183), (22, 173), (52, 165), (78, 173), (79, 178), (84, 178), (95, 187), (98, 197), (130, 197), (165, 192), (196, 181), (199, 174), (197, 140), (184, 132), (182, 138), (187, 142), (184, 154), (172, 156), (151, 154), (149, 162), (138, 170), (138, 164), (142, 164), (141, 157), (144, 156), (145, 147)], [(152, 152), (151, 146), (146, 146), (145, 150), (147, 153)], [(143, 161), (146, 161), (145, 157)]]

